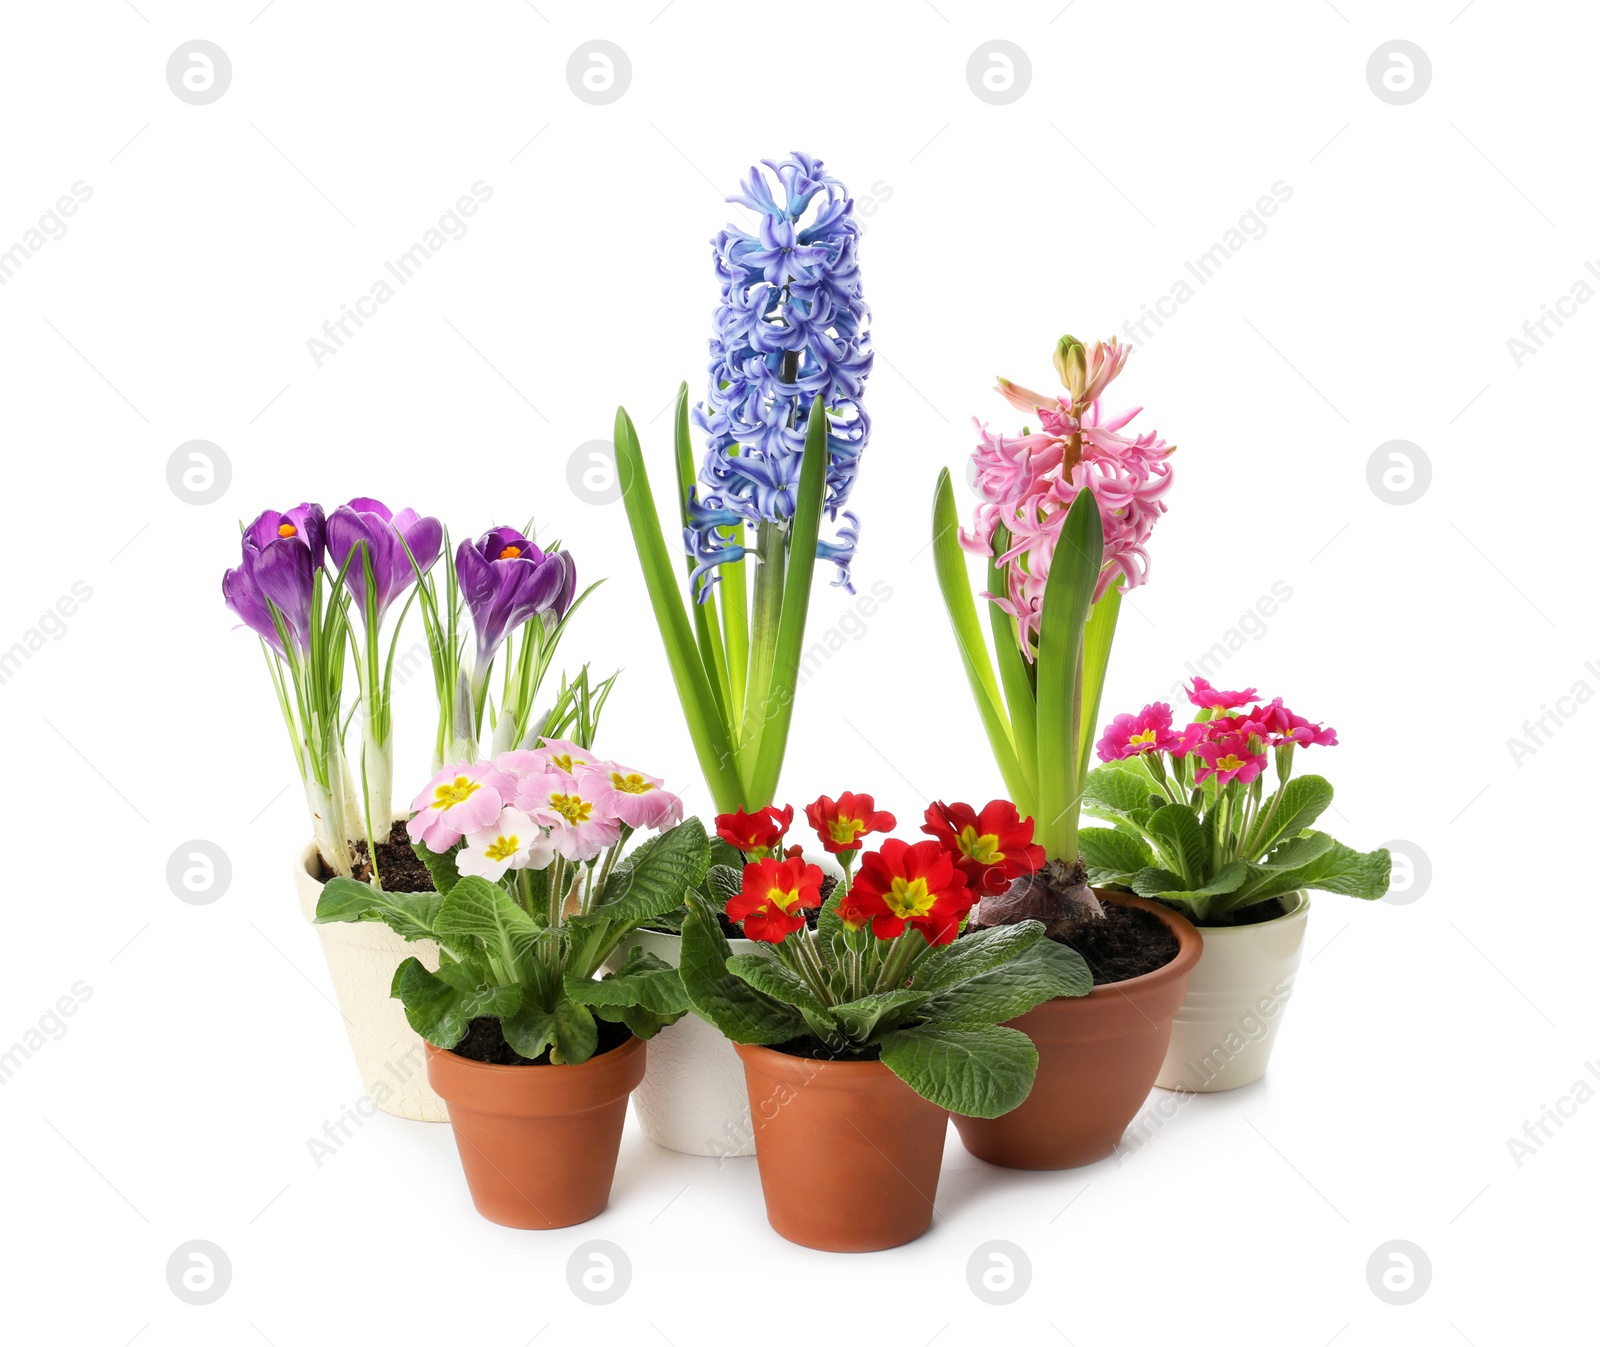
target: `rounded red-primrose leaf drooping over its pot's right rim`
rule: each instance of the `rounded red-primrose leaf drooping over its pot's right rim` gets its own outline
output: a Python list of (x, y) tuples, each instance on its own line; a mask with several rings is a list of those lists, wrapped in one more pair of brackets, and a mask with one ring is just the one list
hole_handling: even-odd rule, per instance
[(923, 1099), (968, 1118), (997, 1118), (1027, 1099), (1038, 1053), (998, 1024), (898, 1029), (883, 1037), (883, 1065)]

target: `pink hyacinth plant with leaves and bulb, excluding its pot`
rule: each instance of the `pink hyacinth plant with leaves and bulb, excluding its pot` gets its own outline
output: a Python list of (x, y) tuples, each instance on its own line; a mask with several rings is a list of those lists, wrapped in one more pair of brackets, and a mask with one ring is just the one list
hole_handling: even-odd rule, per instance
[[(1173, 446), (1155, 432), (1128, 432), (1138, 410), (1101, 413), (1126, 360), (1115, 338), (1085, 347), (1064, 336), (1054, 352), (1064, 395), (1000, 379), (1000, 395), (1037, 429), (979, 427), (971, 533), (960, 528), (949, 472), (934, 491), (939, 589), (995, 765), (1016, 806), (1038, 819), (1048, 864), (1027, 915), (1046, 925), (1098, 910), (1078, 854), (1078, 813), (1122, 597), (1149, 574), (1146, 546), (1171, 486)], [(994, 658), (963, 549), (984, 557), (979, 597)], [(1114, 729), (1134, 750), (1139, 736), (1162, 733), (1131, 721)]]

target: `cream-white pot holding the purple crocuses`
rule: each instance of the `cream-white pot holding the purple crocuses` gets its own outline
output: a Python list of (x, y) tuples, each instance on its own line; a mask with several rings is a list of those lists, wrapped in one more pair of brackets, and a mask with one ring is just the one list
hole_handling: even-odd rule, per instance
[[(294, 861), (294, 889), (301, 915), (317, 917), (322, 880), (315, 843), (307, 843)], [(438, 968), (438, 945), (432, 941), (402, 941), (381, 921), (331, 921), (317, 926), (328, 976), (339, 1000), (339, 1014), (350, 1035), (350, 1051), (362, 1073), (366, 1097), (386, 1113), (419, 1123), (445, 1123), (445, 1101), (427, 1083), (422, 1040), (406, 1024), (405, 1008), (389, 995), (395, 969), (413, 955), (430, 969)]]

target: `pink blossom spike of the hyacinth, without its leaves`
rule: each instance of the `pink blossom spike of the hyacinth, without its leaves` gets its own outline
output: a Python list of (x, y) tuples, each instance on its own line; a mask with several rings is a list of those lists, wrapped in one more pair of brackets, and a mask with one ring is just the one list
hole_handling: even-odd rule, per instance
[(1144, 584), (1150, 557), (1146, 544), (1155, 522), (1166, 512), (1162, 499), (1173, 482), (1166, 459), (1173, 453), (1154, 430), (1123, 434), (1142, 408), (1101, 418), (1099, 397), (1122, 373), (1126, 349), (1115, 338), (1083, 352), (1082, 392), (1074, 402), (1046, 398), (1002, 379), (998, 392), (1011, 406), (1030, 411), (1040, 429), (1024, 435), (995, 434), (974, 419), (979, 434), (973, 453), (976, 486), (982, 501), (973, 533), (962, 533), (962, 546), (994, 557), (994, 533), (1003, 525), (1011, 546), (995, 557), (1006, 571), (1005, 594), (986, 594), (1018, 624), (1018, 642), (1032, 659), (1032, 638), (1038, 634), (1050, 563), (1078, 491), (1088, 490), (1099, 506), (1106, 550), (1094, 598), (1112, 584), (1126, 589)]

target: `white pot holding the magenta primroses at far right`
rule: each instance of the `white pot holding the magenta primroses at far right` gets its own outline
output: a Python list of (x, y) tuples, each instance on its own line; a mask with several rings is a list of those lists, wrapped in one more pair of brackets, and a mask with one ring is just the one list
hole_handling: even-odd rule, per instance
[(1205, 949), (1155, 1083), (1210, 1094), (1261, 1080), (1294, 989), (1310, 894), (1280, 899), (1283, 915), (1253, 926), (1202, 926)]

